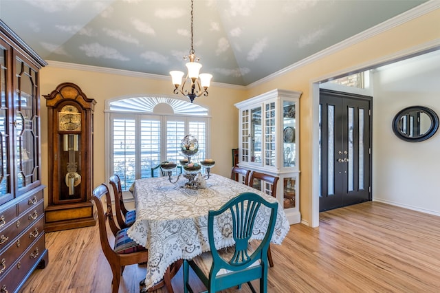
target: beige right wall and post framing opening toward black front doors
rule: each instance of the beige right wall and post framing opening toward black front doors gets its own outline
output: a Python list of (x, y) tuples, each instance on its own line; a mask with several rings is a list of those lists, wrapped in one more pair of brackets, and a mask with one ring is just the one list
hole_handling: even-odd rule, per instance
[[(393, 56), (402, 50), (440, 39), (440, 9), (408, 21), (391, 30), (377, 34), (347, 49), (329, 54), (318, 61), (303, 65), (292, 72), (252, 87), (248, 96), (256, 96), (274, 88), (303, 91), (300, 98), (300, 213), (305, 222), (311, 221), (312, 197), (312, 109), (311, 84), (320, 78), (348, 72), (353, 67), (374, 63), (384, 56)], [(317, 155), (317, 154), (316, 154)]]

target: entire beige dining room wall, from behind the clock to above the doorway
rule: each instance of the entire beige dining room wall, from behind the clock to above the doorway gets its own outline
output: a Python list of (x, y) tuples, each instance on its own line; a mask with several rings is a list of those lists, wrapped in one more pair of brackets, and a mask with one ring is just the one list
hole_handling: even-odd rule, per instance
[[(238, 145), (238, 111), (234, 103), (256, 96), (271, 89), (292, 89), (303, 91), (300, 98), (300, 212), (305, 222), (311, 221), (312, 197), (312, 118), (317, 109), (312, 109), (313, 93), (311, 83), (324, 76), (348, 72), (350, 68), (393, 56), (402, 50), (417, 47), (440, 39), (440, 9), (417, 19), (403, 23), (391, 30), (376, 34), (365, 41), (352, 45), (333, 54), (323, 56), (318, 61), (307, 63), (291, 72), (265, 83), (259, 83), (244, 90), (212, 87), (208, 98), (199, 98), (212, 113), (212, 158), (216, 160), (215, 173), (229, 175), (231, 149)], [(268, 60), (267, 62), (270, 62)], [(95, 110), (95, 173), (94, 184), (106, 181), (104, 178), (104, 100), (132, 94), (170, 94), (169, 80), (148, 80), (113, 74), (102, 74), (74, 69), (45, 67), (41, 71), (41, 94), (49, 94), (59, 83), (76, 83), (89, 98), (98, 103)], [(171, 94), (170, 94), (171, 95)], [(42, 98), (42, 160), (43, 184), (47, 184), (47, 111)], [(313, 131), (312, 131), (313, 129)], [(47, 196), (47, 194), (45, 195)]]

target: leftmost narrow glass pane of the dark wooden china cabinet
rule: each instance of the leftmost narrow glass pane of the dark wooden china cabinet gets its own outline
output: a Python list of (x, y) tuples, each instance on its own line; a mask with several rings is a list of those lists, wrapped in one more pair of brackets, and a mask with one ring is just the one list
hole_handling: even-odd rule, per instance
[[(11, 192), (9, 171), (9, 132), (8, 132), (8, 92), (6, 91), (6, 67), (7, 51), (0, 47), (0, 197)], [(0, 199), (1, 202), (1, 199)]]

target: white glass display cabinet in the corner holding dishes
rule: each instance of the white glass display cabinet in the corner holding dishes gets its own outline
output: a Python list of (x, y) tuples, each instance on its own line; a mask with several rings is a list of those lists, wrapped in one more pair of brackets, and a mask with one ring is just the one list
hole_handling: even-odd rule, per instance
[(299, 102), (302, 92), (274, 89), (239, 109), (239, 163), (242, 168), (278, 176), (276, 197), (290, 224), (299, 210)]

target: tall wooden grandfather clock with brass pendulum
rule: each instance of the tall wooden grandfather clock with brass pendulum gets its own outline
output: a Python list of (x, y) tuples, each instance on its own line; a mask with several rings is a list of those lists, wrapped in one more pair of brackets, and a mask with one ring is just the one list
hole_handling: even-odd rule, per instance
[(90, 202), (93, 188), (94, 107), (74, 83), (61, 83), (49, 95), (47, 106), (49, 204), (48, 232), (94, 226)]

